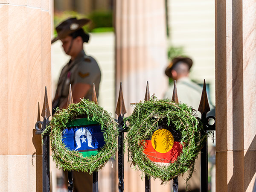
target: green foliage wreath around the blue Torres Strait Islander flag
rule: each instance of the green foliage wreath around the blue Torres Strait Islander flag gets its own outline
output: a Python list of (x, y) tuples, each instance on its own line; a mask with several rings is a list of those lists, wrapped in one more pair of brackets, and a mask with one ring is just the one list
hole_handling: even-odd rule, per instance
[[(76, 116), (92, 117), (92, 121), (99, 122), (101, 130), (104, 131), (105, 145), (96, 155), (83, 157), (78, 151), (71, 151), (65, 147), (62, 142), (62, 131), (70, 120)], [(108, 160), (113, 156), (118, 148), (117, 123), (111, 114), (105, 111), (94, 102), (88, 99), (82, 99), (81, 102), (71, 104), (67, 109), (59, 110), (52, 116), (49, 126), (42, 134), (49, 133), (52, 148), (52, 158), (56, 162), (57, 167), (68, 171), (83, 171), (92, 174), (105, 166)]]

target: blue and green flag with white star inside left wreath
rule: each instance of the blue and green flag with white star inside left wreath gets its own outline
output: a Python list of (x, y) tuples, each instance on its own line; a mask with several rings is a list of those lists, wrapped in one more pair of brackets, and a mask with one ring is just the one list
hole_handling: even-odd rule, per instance
[(66, 148), (80, 152), (83, 157), (96, 155), (105, 145), (103, 132), (98, 122), (87, 118), (74, 119), (62, 131), (62, 142)]

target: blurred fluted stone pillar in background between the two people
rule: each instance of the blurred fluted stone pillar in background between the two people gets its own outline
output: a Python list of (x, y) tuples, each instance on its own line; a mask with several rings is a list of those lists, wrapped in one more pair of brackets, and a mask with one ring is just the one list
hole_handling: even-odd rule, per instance
[[(122, 82), (127, 115), (133, 111), (130, 103), (144, 100), (146, 81), (150, 94), (163, 97), (168, 79), (165, 1), (116, 0), (116, 99)], [(126, 115), (126, 116), (127, 116)], [(140, 172), (130, 168), (125, 157), (125, 191), (145, 191)], [(170, 191), (170, 185), (160, 185), (151, 179), (152, 191)]]

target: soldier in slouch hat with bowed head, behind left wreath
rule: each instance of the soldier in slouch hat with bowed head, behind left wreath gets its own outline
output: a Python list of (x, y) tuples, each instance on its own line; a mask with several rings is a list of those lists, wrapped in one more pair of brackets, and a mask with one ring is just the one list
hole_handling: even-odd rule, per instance
[[(69, 93), (69, 85), (72, 86), (73, 102), (80, 102), (80, 98), (91, 100), (93, 83), (95, 84), (96, 95), (99, 95), (99, 83), (101, 72), (96, 60), (85, 54), (84, 42), (89, 41), (89, 35), (84, 32), (82, 26), (89, 23), (89, 19), (69, 18), (56, 27), (57, 37), (52, 40), (62, 42), (62, 47), (70, 61), (63, 67), (58, 80), (55, 97), (52, 101), (52, 113), (55, 109), (66, 108)], [(67, 172), (65, 184), (67, 185)], [(92, 192), (92, 175), (84, 172), (73, 172), (74, 192)]]

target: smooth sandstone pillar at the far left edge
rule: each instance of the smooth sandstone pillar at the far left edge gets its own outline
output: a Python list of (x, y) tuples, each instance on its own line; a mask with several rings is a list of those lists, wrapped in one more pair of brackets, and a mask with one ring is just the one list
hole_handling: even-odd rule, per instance
[(44, 87), (51, 93), (50, 3), (0, 0), (1, 191), (42, 190), (35, 122), (42, 120)]

